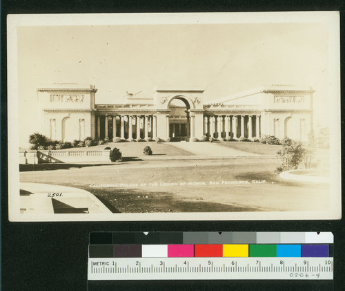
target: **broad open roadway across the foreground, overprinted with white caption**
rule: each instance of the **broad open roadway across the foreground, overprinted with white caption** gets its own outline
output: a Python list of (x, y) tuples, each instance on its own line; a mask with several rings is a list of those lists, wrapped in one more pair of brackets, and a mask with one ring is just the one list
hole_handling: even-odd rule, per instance
[(52, 191), (54, 184), (86, 189), (112, 212), (121, 213), (299, 211), (328, 207), (328, 185), (281, 180), (274, 173), (275, 167), (274, 158), (143, 160), (25, 171), (20, 173), (20, 180), (52, 184)]

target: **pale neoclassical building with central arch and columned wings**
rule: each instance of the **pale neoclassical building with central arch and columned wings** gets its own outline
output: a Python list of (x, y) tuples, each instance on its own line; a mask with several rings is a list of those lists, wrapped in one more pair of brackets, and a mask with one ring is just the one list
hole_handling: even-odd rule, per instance
[(313, 130), (313, 89), (273, 85), (205, 102), (200, 89), (155, 88), (96, 104), (95, 86), (39, 88), (41, 133), (53, 140), (186, 138), (264, 135), (307, 140)]

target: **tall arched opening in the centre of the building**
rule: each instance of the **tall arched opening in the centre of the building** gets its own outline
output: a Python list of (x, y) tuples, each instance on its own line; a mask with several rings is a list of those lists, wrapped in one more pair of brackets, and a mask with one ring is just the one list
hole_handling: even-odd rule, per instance
[(172, 98), (168, 104), (169, 138), (171, 141), (189, 140), (190, 104), (183, 96)]

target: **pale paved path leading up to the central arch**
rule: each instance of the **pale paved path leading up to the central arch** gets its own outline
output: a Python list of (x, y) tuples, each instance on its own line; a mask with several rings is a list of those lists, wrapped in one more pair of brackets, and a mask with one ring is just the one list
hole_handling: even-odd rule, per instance
[(248, 153), (248, 151), (239, 151), (238, 149), (230, 149), (222, 147), (213, 142), (171, 142), (174, 147), (179, 147), (185, 151), (190, 151), (196, 156), (221, 156), (221, 157), (234, 157), (234, 156), (261, 156), (255, 153)]

